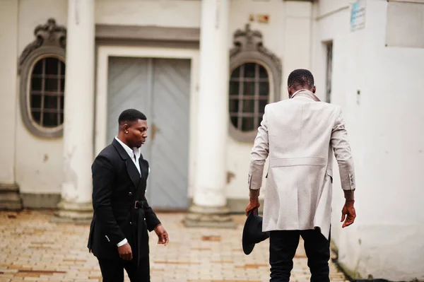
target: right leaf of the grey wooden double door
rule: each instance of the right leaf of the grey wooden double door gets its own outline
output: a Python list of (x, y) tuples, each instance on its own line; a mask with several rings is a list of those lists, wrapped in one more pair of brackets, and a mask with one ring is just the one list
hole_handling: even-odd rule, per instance
[(148, 195), (158, 207), (187, 208), (190, 61), (154, 59), (153, 77), (153, 119), (159, 130), (152, 141)]

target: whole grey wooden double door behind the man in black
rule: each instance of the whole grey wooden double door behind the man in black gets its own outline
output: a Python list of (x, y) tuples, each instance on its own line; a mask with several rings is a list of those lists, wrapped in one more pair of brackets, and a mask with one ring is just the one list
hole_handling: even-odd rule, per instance
[(109, 59), (107, 140), (117, 135), (123, 110), (146, 114), (148, 139), (141, 147), (151, 169), (146, 197), (157, 209), (188, 205), (189, 90), (188, 59)]

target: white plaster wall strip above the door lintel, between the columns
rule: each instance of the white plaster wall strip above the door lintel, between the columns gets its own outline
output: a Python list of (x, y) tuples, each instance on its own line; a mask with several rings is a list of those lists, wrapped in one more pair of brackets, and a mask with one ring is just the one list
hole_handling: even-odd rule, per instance
[(200, 0), (96, 0), (95, 23), (199, 28)]

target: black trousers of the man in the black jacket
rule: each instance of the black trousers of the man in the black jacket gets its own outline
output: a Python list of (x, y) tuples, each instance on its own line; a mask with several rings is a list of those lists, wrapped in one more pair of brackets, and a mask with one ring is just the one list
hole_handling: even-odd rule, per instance
[(137, 259), (131, 261), (98, 259), (102, 271), (103, 282), (124, 282), (124, 269), (131, 282), (150, 282), (149, 258), (140, 259), (137, 267)]

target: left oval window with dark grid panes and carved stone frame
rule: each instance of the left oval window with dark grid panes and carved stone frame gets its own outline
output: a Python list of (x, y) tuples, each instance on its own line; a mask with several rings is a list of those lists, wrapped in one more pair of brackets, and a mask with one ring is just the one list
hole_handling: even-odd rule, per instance
[(66, 29), (49, 19), (20, 55), (20, 113), (28, 130), (59, 137), (64, 123)]

